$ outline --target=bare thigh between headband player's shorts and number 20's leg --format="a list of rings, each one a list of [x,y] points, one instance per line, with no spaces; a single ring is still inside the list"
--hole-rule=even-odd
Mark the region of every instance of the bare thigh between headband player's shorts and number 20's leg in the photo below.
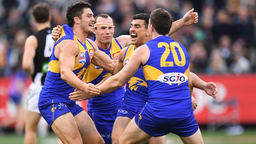
[[[129,117],[118,116],[115,119],[115,123],[112,131],[112,144],[118,144],[118,140],[124,133],[125,128],[128,126],[131,119]]]

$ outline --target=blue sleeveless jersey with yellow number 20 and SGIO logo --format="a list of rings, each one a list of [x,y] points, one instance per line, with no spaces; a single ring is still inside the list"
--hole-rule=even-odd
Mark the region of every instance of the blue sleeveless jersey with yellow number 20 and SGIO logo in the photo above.
[[[168,36],[146,42],[150,56],[143,65],[148,81],[146,108],[158,118],[186,118],[192,105],[188,87],[189,55],[186,48]],[[193,113],[192,113],[193,114]]]

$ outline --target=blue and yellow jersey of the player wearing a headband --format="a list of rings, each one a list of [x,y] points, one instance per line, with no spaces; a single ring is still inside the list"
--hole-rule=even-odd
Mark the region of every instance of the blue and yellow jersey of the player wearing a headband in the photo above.
[[[95,41],[95,38],[92,39]],[[111,59],[119,59],[119,53],[122,50],[122,46],[119,44],[117,39],[112,38],[111,44],[108,50],[101,49],[99,50],[105,52]],[[93,65],[92,63],[88,66],[87,71],[83,77],[83,81],[86,83],[93,83],[94,85],[98,84],[102,79],[110,76],[111,74],[98,66]],[[124,87],[121,87],[113,92],[108,94],[102,94],[95,96],[88,100],[87,110],[91,113],[98,114],[114,114],[117,113],[118,107],[122,102],[124,96]]]

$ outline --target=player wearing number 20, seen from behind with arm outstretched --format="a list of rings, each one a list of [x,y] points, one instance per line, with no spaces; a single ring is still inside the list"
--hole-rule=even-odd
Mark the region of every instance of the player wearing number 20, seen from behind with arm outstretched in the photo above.
[[[120,143],[137,143],[167,133],[179,135],[184,143],[203,143],[191,106],[188,54],[182,44],[165,36],[171,21],[167,11],[154,10],[148,24],[153,39],[137,48],[129,63],[99,86],[101,93],[117,89],[143,65],[148,102],[128,124]]]

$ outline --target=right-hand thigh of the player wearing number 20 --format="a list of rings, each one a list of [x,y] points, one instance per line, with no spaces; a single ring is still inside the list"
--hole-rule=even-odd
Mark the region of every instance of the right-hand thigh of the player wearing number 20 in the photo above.
[[[189,137],[180,137],[184,144],[204,144],[200,129]]]

